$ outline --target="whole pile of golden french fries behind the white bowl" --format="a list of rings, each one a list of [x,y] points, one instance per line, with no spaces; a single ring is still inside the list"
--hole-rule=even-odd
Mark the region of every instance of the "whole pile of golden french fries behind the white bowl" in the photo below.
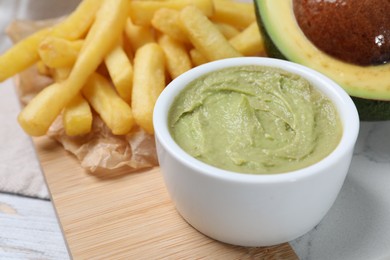
[[[252,3],[232,0],[84,0],[61,22],[0,56],[0,82],[31,66],[53,83],[21,111],[31,136],[59,116],[69,136],[89,133],[97,114],[114,135],[153,134],[156,99],[200,64],[264,52]]]

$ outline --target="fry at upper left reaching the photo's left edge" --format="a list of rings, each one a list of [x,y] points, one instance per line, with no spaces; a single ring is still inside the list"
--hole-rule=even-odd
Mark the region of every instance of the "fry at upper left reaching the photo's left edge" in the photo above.
[[[41,29],[13,45],[0,56],[0,82],[32,66],[39,60],[38,46],[48,35],[75,40],[91,26],[103,0],[84,0],[63,22]]]

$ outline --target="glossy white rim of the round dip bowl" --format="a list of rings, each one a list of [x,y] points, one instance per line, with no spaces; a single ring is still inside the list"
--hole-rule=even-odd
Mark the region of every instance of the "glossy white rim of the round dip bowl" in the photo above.
[[[298,74],[320,89],[328,98],[333,101],[339,113],[343,127],[343,134],[336,148],[319,162],[285,173],[272,174],[248,174],[224,170],[207,163],[204,163],[186,151],[184,151],[172,138],[168,129],[168,112],[175,97],[192,80],[207,74],[211,71],[246,65],[258,65],[276,67],[290,73]],[[172,80],[158,97],[153,111],[153,125],[155,129],[156,142],[165,149],[172,157],[187,167],[196,170],[200,174],[225,181],[244,183],[272,183],[272,182],[294,182],[302,178],[313,176],[315,172],[322,172],[329,166],[334,165],[353,149],[360,127],[359,115],[354,102],[347,92],[336,82],[314,69],[298,63],[268,57],[238,57],[227,58],[208,62],[199,65]]]

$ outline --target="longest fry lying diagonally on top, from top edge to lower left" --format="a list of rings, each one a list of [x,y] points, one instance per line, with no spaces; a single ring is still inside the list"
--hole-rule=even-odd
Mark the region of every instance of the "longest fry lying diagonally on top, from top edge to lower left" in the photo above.
[[[128,0],[102,3],[69,77],[55,84],[55,88],[38,93],[19,114],[18,121],[26,133],[44,135],[61,110],[81,91],[123,32],[128,3]],[[44,111],[50,112],[47,115]]]

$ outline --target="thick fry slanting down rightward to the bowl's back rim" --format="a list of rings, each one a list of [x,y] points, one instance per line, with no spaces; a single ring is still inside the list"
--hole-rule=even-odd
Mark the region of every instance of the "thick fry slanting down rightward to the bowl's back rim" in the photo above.
[[[242,56],[197,7],[190,5],[180,11],[180,25],[208,61]]]

